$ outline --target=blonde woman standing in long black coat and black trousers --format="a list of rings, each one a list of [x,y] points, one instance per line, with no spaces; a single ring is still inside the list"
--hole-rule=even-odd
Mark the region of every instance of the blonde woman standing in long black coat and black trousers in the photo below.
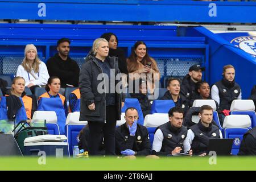
[[[106,155],[115,155],[115,126],[120,119],[124,98],[117,59],[108,54],[108,41],[102,38],[94,40],[79,76],[80,121],[88,121],[89,155],[100,155],[101,131],[104,133]],[[114,76],[119,76],[119,80]]]

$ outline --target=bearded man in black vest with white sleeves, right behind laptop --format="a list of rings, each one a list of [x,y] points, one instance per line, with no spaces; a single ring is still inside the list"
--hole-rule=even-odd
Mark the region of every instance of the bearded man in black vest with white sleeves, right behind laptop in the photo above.
[[[213,125],[213,109],[211,106],[203,105],[199,112],[200,121],[189,128],[184,140],[184,151],[192,150],[193,154],[205,156],[208,151],[210,139],[222,138],[218,126]]]

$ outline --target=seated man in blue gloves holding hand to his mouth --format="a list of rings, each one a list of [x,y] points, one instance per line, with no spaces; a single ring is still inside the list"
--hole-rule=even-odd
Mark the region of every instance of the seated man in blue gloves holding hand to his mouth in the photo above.
[[[138,111],[128,107],[125,111],[126,122],[115,130],[117,155],[150,155],[150,140],[147,128],[139,125]]]

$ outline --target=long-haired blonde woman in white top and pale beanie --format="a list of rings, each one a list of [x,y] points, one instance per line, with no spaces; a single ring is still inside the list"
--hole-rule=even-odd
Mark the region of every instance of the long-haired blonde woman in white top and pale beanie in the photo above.
[[[19,65],[16,76],[21,76],[26,81],[26,85],[35,93],[35,88],[47,84],[49,74],[46,64],[38,58],[38,51],[33,44],[27,44],[24,51],[24,59]]]

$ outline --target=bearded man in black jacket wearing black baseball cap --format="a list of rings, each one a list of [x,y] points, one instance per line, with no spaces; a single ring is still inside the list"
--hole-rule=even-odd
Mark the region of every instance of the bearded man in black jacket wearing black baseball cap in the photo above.
[[[188,74],[182,80],[180,93],[186,98],[188,105],[192,106],[196,83],[202,80],[202,72],[205,71],[205,68],[199,64],[194,64],[188,71]]]

